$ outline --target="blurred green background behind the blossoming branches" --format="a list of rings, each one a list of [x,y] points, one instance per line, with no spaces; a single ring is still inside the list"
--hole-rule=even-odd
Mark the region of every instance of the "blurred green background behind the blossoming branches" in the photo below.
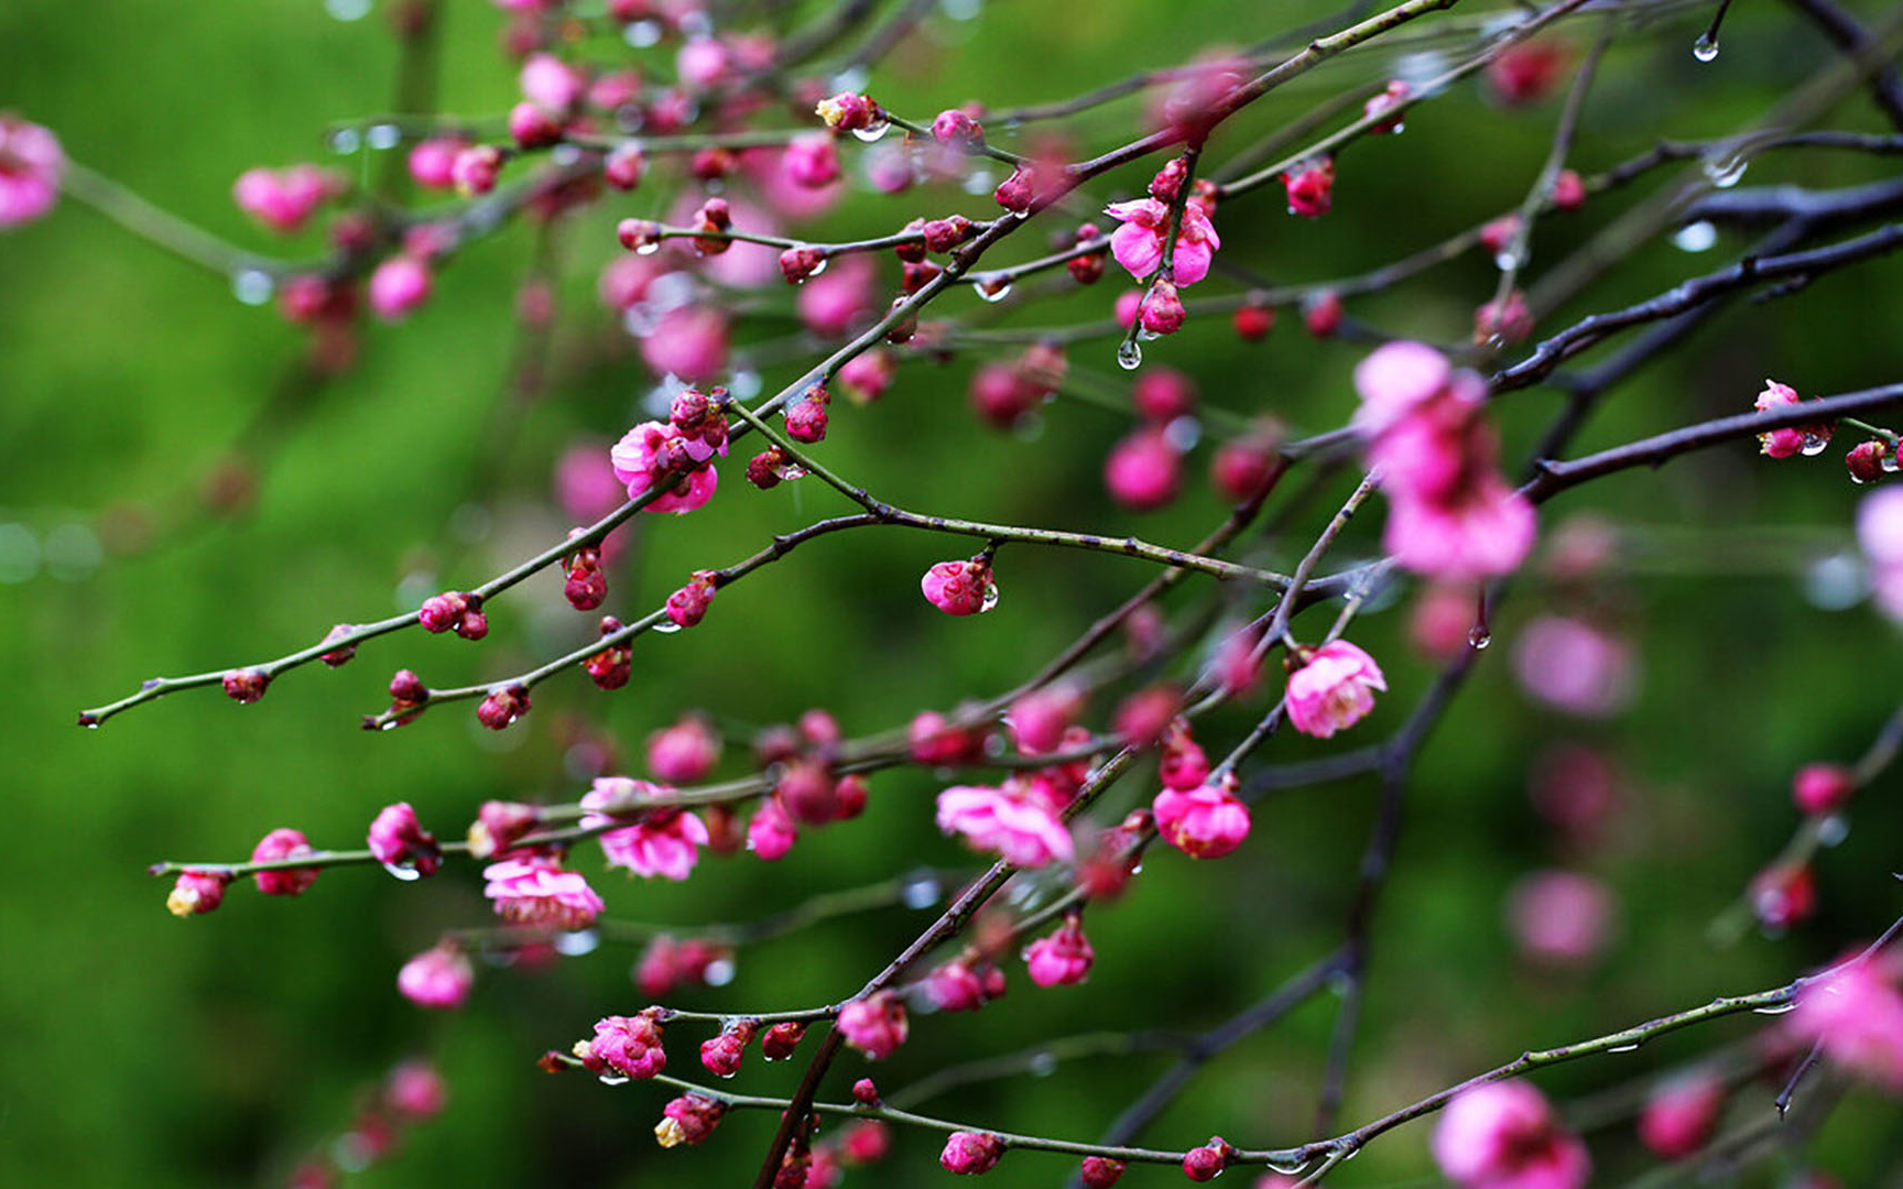
[[[358,158],[329,158],[322,131],[388,103],[396,44],[383,8],[339,21],[318,0],[257,0],[242,10],[13,0],[0,8],[0,108],[51,126],[74,160],[152,202],[270,251],[232,207],[230,183],[255,164],[360,167]],[[872,72],[870,89],[894,110],[929,116],[974,97],[993,107],[1058,99],[1326,11],[1246,0],[946,6],[953,8],[934,10],[923,32]],[[980,8],[978,19],[963,19]],[[1572,160],[1591,171],[1659,135],[1736,131],[1825,61],[1819,38],[1785,8],[1739,8],[1711,67],[1688,53],[1703,8],[1665,13],[1621,42]],[[504,110],[514,67],[497,49],[502,15],[457,0],[441,23],[443,110]],[[1568,27],[1574,53],[1591,29]],[[1237,120],[1214,141],[1212,158],[1345,86],[1385,76],[1399,53],[1442,48],[1422,40],[1351,55]],[[668,53],[672,46],[636,57],[664,63]],[[1345,154],[1326,219],[1288,219],[1271,192],[1224,207],[1224,255],[1302,282],[1437,242],[1520,200],[1555,114],[1557,101],[1503,110],[1477,86],[1462,86],[1414,112],[1406,135]],[[1077,141],[1102,148],[1136,122],[1127,101],[1085,120]],[[1878,127],[1861,95],[1827,124]],[[851,167],[856,146],[845,148]],[[1838,186],[1882,177],[1880,166],[1850,154],[1772,156],[1751,167],[1745,185]],[[1106,179],[1098,198],[1134,194],[1146,177],[1134,169]],[[883,731],[919,708],[1016,683],[1134,590],[1148,576],[1142,567],[1014,546],[999,573],[999,609],[961,622],[934,614],[915,594],[917,575],[959,556],[961,544],[913,533],[835,536],[723,592],[700,630],[643,637],[634,681],[618,694],[599,694],[579,675],[552,681],[537,691],[535,713],[499,736],[481,732],[468,706],[402,732],[356,729],[358,713],[384,704],[396,668],[432,683],[474,681],[573,647],[584,616],[565,609],[554,576],[540,576],[491,609],[493,633],[481,647],[402,633],[363,647],[339,672],[284,677],[251,708],[196,691],[97,732],[72,727],[78,708],[120,696],[143,677],[276,656],[337,620],[415,605],[419,590],[476,584],[554,540],[567,527],[550,498],[554,458],[575,439],[618,436],[641,417],[651,384],[632,352],[601,348],[617,335],[594,299],[599,264],[618,251],[609,228],[620,215],[664,209],[674,185],[657,175],[636,196],[598,204],[561,228],[556,382],[527,407],[510,394],[512,289],[533,251],[523,226],[459,255],[438,278],[436,299],[405,325],[367,325],[356,367],[314,388],[287,379],[297,375],[303,335],[272,308],[236,302],[223,278],[74,202],[0,236],[0,521],[10,525],[0,559],[0,704],[15,837],[10,894],[0,898],[8,955],[0,1181],[282,1183],[348,1130],[365,1086],[413,1054],[430,1056],[447,1077],[449,1111],[350,1183],[647,1187],[752,1176],[771,1134],[767,1117],[731,1117],[704,1147],[662,1153],[649,1132],[668,1094],[537,1073],[544,1048],[565,1048],[601,1014],[641,1006],[628,984],[632,951],[605,945],[539,970],[485,970],[470,1006],[447,1018],[396,995],[398,966],[440,928],[485,921],[468,864],[421,885],[373,869],[331,871],[295,902],[238,887],[215,915],[185,923],[166,915],[166,887],[145,866],[242,858],[274,826],[297,826],[320,847],[362,845],[369,818],[398,799],[453,837],[485,797],[573,799],[582,782],[565,769],[575,763],[565,753],[579,731],[611,738],[622,767],[636,770],[645,734],[683,708],[710,708],[742,738],[809,706],[832,710],[849,734]],[[1629,202],[1621,194],[1541,224],[1532,274]],[[814,234],[864,234],[919,213],[976,217],[990,207],[955,188],[858,192]],[[1745,232],[1726,228],[1707,255],[1648,249],[1547,325],[1654,293],[1745,244]],[[297,255],[316,247],[310,236]],[[1028,259],[1039,247],[1012,242],[1001,251]],[[1393,333],[1460,339],[1494,276],[1490,263],[1469,257],[1349,310]],[[1111,278],[1018,318],[1028,325],[1100,318],[1115,291]],[[1804,394],[1892,382],[1897,354],[1888,323],[1899,299],[1903,274],[1878,261],[1785,301],[1732,308],[1619,388],[1578,445],[1743,409],[1766,375]],[[752,304],[765,312],[740,323],[738,341],[782,335],[788,302],[780,287],[763,291]],[[942,306],[982,308],[965,293]],[[1191,373],[1210,405],[1323,430],[1347,417],[1347,375],[1364,350],[1315,342],[1294,318],[1265,344],[1246,346],[1226,320],[1203,318],[1149,344],[1149,360]],[[912,363],[872,409],[835,403],[826,458],[919,510],[1140,531],[1172,544],[1195,540],[1222,516],[1201,478],[1207,445],[1167,512],[1132,516],[1108,502],[1102,457],[1128,430],[1127,415],[1060,400],[1045,411],[1039,436],[978,426],[963,398],[974,360]],[[803,365],[765,367],[769,390]],[[1106,386],[1127,384],[1108,341],[1077,346],[1071,365]],[[1543,390],[1503,401],[1507,457],[1524,451],[1557,407]],[[249,485],[253,495],[236,506],[207,495]],[[1292,565],[1351,485],[1344,474],[1321,491],[1271,563]],[[1707,942],[1707,925],[1795,828],[1787,789],[1796,765],[1859,755],[1895,708],[1893,626],[1867,603],[1815,601],[1814,563],[1852,550],[1861,495],[1836,451],[1772,464],[1737,443],[1549,506],[1547,525],[1593,510],[1646,544],[1631,554],[1646,565],[1616,567],[1585,599],[1597,622],[1633,643],[1637,696],[1606,719],[1532,702],[1511,677],[1509,654],[1517,628],[1551,592],[1528,582],[1507,603],[1498,643],[1418,767],[1376,926],[1345,1122],[1528,1046],[1787,982],[1897,913],[1888,873],[1903,814],[1892,776],[1869,789],[1848,839],[1821,858],[1814,921],[1787,938]],[[710,508],[641,523],[607,609],[651,607],[687,571],[736,559],[835,506],[811,481],[757,493],[729,464]],[[1374,550],[1378,519],[1357,523],[1342,561]],[[1195,582],[1186,584],[1170,609],[1191,607],[1197,594]],[[1581,605],[1564,597],[1574,601],[1562,607]],[[1825,592],[1825,601],[1840,599]],[[1404,618],[1403,603],[1366,614],[1353,632],[1391,679],[1376,715],[1330,746],[1279,738],[1269,761],[1374,742],[1403,721],[1433,673],[1410,653]],[[1108,713],[1108,702],[1092,713]],[[1226,748],[1252,713],[1260,706],[1227,711],[1199,734],[1212,750]],[[1585,852],[1560,848],[1528,805],[1532,765],[1560,742],[1600,748],[1623,772],[1616,824],[1604,845]],[[742,753],[744,744],[729,748],[727,770],[742,770]],[[1111,807],[1121,812],[1148,799],[1148,780],[1125,782]],[[864,820],[803,839],[775,866],[708,860],[683,887],[599,873],[592,848],[577,866],[615,917],[748,919],[902,866],[967,862],[931,826],[936,788],[927,772],[881,774]],[[1298,791],[1265,803],[1248,847],[1227,862],[1157,854],[1134,894],[1092,911],[1098,965],[1087,985],[1039,991],[1014,970],[1003,1003],[917,1022],[913,1043],[877,1071],[881,1086],[1052,1035],[1214,1025],[1338,942],[1372,807],[1368,780]],[[1618,894],[1618,936],[1600,961],[1553,972],[1517,955],[1501,904],[1519,877],[1545,866],[1585,869]],[[733,985],[687,991],[681,1006],[765,1010],[837,999],[927,919],[891,909],[750,949]],[[1197,1143],[1210,1132],[1248,1145],[1305,1140],[1332,1003],[1311,1001],[1220,1058],[1146,1138],[1159,1145]],[[1540,1084],[1560,1098],[1585,1094],[1760,1025],[1722,1022],[1633,1056],[1564,1067]],[[674,1071],[695,1073],[700,1037],[685,1025],[670,1037]],[[929,1107],[1092,1138],[1167,1062],[1149,1054],[1068,1063]],[[849,1084],[858,1065],[845,1058],[834,1084]],[[786,1094],[794,1079],[790,1067],[754,1058],[735,1088]],[[1772,1092],[1745,1088],[1734,1119],[1770,1111]],[[1330,1183],[1433,1183],[1427,1130],[1416,1124],[1382,1140]],[[889,1164],[851,1176],[854,1183],[936,1178],[936,1147],[932,1136],[900,1134]],[[1648,1168],[1627,1122],[1597,1132],[1593,1147],[1602,1168],[1595,1183],[1623,1183]],[[1899,1183],[1895,1107],[1854,1092],[1823,1128],[1815,1157],[1846,1185]],[[993,1178],[1054,1183],[1068,1170],[1060,1159],[1016,1155]],[[1127,1183],[1176,1176],[1140,1170]],[[1753,1174],[1741,1183],[1777,1181]]]

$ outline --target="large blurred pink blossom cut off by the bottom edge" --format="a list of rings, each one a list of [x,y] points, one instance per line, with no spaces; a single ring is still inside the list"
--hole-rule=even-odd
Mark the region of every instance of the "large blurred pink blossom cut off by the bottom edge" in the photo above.
[[[1583,1189],[1593,1172],[1585,1145],[1526,1082],[1456,1094],[1435,1126],[1433,1157],[1460,1189]]]

